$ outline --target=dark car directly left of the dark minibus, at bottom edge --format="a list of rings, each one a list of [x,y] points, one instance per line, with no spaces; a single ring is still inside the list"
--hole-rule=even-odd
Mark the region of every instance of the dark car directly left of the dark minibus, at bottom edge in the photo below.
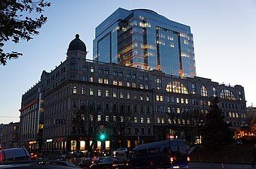
[[[129,168],[128,163],[120,158],[104,157],[99,159],[94,164],[91,164],[90,169],[121,169]]]

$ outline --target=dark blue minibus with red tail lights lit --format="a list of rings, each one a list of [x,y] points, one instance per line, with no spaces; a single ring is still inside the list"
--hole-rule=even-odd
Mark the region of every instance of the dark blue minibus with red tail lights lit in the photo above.
[[[145,143],[133,149],[132,168],[188,168],[190,157],[184,140]]]

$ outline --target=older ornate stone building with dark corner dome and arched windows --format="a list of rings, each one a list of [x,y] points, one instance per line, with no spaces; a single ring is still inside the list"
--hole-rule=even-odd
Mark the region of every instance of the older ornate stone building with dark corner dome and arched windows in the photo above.
[[[91,61],[86,54],[76,35],[66,60],[51,72],[43,71],[40,82],[23,95],[24,145],[33,138],[43,149],[83,150],[93,133],[99,149],[169,138],[199,143],[199,123],[216,96],[231,127],[244,122],[242,86]],[[106,134],[101,141],[100,133]]]

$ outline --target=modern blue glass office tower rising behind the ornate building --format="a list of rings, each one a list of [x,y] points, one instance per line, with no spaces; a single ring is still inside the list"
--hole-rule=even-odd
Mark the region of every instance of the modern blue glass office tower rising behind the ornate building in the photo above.
[[[117,9],[95,30],[94,60],[195,77],[190,26],[146,9]]]

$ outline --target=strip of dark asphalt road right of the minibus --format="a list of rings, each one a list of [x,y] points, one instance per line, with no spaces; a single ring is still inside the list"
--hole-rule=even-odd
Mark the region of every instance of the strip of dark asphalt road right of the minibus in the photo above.
[[[190,163],[190,169],[256,169],[250,164],[218,164],[218,163]]]

